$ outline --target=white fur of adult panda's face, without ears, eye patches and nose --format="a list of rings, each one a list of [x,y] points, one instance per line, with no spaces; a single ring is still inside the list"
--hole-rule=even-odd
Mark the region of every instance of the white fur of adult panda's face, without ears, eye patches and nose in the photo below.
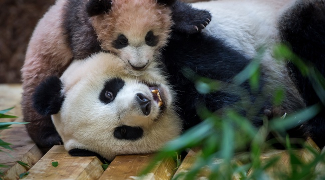
[[[61,76],[65,95],[59,113],[53,122],[67,150],[73,148],[97,152],[107,159],[119,154],[148,153],[158,150],[182,130],[181,120],[174,110],[174,92],[164,75],[150,66],[142,75],[134,75],[125,64],[109,53],[98,53],[85,60],[75,60]],[[103,103],[99,94],[105,81],[120,77],[125,85],[111,103]],[[152,94],[145,83],[159,84],[167,108],[159,113]],[[136,93],[151,100],[150,114],[144,115],[135,101]],[[117,126],[140,126],[143,136],[137,140],[117,139],[113,132]]]

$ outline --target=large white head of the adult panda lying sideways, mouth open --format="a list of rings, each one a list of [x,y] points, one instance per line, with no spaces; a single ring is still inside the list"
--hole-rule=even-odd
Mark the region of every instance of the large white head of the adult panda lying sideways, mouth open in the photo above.
[[[36,89],[35,108],[52,114],[72,155],[153,152],[182,130],[174,92],[159,69],[153,64],[136,76],[117,58],[100,52],[75,60],[60,79],[50,77]]]

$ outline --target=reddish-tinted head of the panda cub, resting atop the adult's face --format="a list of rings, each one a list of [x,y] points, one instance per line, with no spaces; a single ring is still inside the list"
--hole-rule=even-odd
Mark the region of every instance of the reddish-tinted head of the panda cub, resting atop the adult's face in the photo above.
[[[167,44],[176,0],[90,0],[87,11],[101,48],[144,69]]]

